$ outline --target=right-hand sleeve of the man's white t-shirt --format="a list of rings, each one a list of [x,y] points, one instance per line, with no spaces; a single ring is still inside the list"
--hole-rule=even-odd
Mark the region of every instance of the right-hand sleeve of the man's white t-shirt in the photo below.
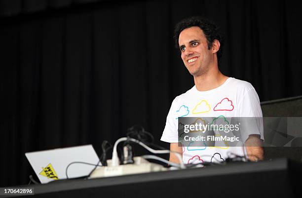
[[[240,117],[242,141],[245,142],[251,134],[258,134],[264,140],[263,115],[255,88],[250,84],[244,89],[241,96],[238,103],[238,117]]]

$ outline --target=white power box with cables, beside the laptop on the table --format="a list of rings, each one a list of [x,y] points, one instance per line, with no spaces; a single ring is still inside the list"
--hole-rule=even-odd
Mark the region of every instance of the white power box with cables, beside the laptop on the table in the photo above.
[[[107,160],[108,166],[102,166],[95,169],[90,178],[98,177],[113,177],[121,175],[139,174],[165,171],[168,168],[163,167],[160,164],[151,163],[142,157],[134,157],[134,163],[112,166],[112,160]]]

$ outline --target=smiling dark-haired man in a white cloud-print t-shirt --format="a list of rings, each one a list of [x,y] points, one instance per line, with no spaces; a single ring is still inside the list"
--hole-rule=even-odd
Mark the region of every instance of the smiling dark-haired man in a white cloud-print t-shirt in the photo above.
[[[223,75],[218,67],[222,56],[223,39],[215,24],[202,17],[191,17],[178,23],[175,42],[181,58],[193,76],[195,86],[177,96],[171,105],[161,140],[170,143],[170,150],[183,153],[183,161],[224,161],[229,154],[245,156],[250,160],[264,158],[262,145],[263,125],[256,124],[248,134],[242,134],[243,147],[179,146],[179,117],[258,117],[262,118],[259,97],[254,87],[246,81]],[[226,106],[228,107],[221,107]],[[199,148],[199,149],[198,149]],[[219,156],[219,157],[218,157]],[[213,161],[215,158],[215,161]],[[170,153],[170,161],[179,163]]]

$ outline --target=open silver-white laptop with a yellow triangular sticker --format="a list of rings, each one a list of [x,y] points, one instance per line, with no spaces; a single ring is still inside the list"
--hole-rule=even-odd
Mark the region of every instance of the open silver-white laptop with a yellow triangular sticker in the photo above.
[[[67,176],[68,178],[87,176],[95,167],[87,163],[97,164],[99,162],[92,145],[30,152],[25,156],[42,184],[66,179]],[[68,166],[69,164],[70,166]]]

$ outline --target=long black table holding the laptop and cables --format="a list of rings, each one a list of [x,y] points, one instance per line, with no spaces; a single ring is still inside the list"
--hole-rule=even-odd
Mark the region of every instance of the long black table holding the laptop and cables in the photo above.
[[[302,164],[286,158],[31,185],[29,198],[301,197]],[[29,187],[29,186],[23,186]],[[9,196],[12,198],[12,196]]]

